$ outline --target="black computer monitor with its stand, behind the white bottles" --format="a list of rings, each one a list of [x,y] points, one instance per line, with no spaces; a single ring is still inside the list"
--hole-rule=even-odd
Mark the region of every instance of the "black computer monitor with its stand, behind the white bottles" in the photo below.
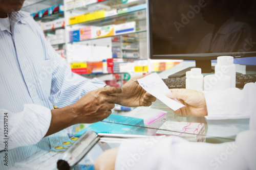
[[[150,59],[195,60],[211,72],[218,56],[256,57],[253,0],[148,0]]]

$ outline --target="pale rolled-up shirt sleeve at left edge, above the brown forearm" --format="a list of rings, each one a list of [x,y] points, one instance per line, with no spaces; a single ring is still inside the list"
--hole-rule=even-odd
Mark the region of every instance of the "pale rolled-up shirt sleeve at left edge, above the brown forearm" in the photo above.
[[[0,151],[39,142],[46,135],[52,118],[50,109],[35,104],[25,104],[19,113],[0,109],[0,114]]]

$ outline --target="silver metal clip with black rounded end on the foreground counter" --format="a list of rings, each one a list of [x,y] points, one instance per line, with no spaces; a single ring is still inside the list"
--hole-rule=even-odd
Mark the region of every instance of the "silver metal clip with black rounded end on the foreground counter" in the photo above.
[[[144,135],[125,135],[125,134],[109,134],[109,133],[98,133],[93,131],[86,131],[77,139],[71,147],[62,154],[62,157],[57,162],[57,168],[60,170],[69,170],[76,165],[89,151],[94,147],[95,144],[99,143],[103,150],[110,149],[105,147],[103,143],[121,143],[127,138],[145,138],[152,136]]]

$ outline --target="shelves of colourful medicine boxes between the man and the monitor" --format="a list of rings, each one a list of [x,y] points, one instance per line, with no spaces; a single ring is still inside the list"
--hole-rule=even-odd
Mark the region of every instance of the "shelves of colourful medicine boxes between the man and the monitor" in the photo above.
[[[84,62],[83,68],[90,67],[81,74],[118,73],[126,59],[126,70],[133,72],[131,60],[147,59],[145,0],[66,0],[64,6],[67,60],[73,67]],[[103,71],[105,61],[112,71]]]

